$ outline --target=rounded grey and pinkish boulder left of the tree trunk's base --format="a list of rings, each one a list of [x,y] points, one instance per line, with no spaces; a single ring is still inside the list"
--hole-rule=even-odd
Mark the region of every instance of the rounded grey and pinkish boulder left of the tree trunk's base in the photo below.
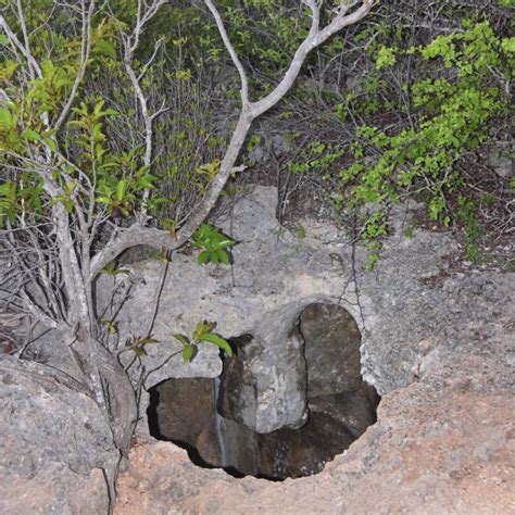
[[[106,513],[118,453],[73,379],[0,360],[0,513]]]

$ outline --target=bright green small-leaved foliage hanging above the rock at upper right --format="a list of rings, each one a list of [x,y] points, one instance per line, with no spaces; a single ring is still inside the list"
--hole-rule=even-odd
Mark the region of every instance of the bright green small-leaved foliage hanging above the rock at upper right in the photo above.
[[[424,63],[426,76],[404,87],[414,123],[397,131],[361,125],[350,146],[354,162],[339,173],[337,208],[377,206],[362,233],[372,250],[369,265],[377,261],[380,248],[374,241],[388,233],[391,203],[417,196],[427,203],[432,221],[452,222],[448,198],[463,186],[456,161],[487,141],[489,124],[507,113],[508,98],[499,77],[512,77],[512,39],[495,36],[487,22],[464,25],[464,32],[438,36],[426,46],[381,47],[377,54],[377,70],[387,73],[398,59],[410,56]],[[468,254],[477,258],[477,205],[464,196],[459,202],[457,218],[464,225]]]

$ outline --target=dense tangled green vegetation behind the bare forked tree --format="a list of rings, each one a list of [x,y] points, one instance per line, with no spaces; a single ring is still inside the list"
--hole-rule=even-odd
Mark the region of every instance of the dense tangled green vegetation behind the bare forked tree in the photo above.
[[[9,16],[14,2],[4,3]],[[481,241],[501,241],[512,222],[513,178],[489,167],[493,154],[512,155],[512,3],[379,3],[309,56],[293,95],[253,126],[241,156],[249,169],[225,194],[258,179],[278,183],[291,214],[296,198],[317,199],[313,210],[330,203],[347,225],[357,216],[354,231],[368,241],[370,264],[388,233],[389,206],[413,198],[427,205],[430,221],[462,229],[468,258],[485,258]],[[309,13],[297,1],[218,4],[256,98],[282,77]],[[154,58],[139,80],[146,109],[161,110],[150,173],[146,121],[120,37],[136,10],[137,2],[109,2],[95,13],[88,73],[58,138],[80,166],[95,166],[97,200],[115,219],[134,215],[151,186],[150,213],[173,228],[217,173],[238,114],[239,79],[202,2],[161,8],[129,56],[137,73]],[[28,30],[38,27],[32,50],[45,78],[25,106],[2,110],[4,129],[28,102],[32,116],[58,116],[77,72],[78,12],[40,0],[27,2],[25,12]],[[15,102],[20,71],[5,40],[3,56],[3,90]],[[39,134],[37,124],[29,126]],[[14,219],[22,199],[26,210],[40,204],[38,181],[26,176],[21,188],[10,174],[2,174],[2,219]],[[288,214],[287,204],[280,214]]]

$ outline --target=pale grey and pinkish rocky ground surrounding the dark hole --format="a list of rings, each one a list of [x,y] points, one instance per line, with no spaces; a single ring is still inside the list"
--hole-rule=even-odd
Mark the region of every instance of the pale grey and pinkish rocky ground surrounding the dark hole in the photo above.
[[[305,395],[288,365],[288,339],[299,314],[323,301],[357,324],[362,375],[382,395],[377,423],[321,474],[280,483],[237,479],[146,436],[143,394],[115,513],[515,513],[515,274],[456,271],[449,235],[400,236],[405,213],[376,269],[366,272],[366,253],[341,244],[335,227],[305,219],[305,234],[285,233],[273,189],[256,188],[218,222],[239,241],[231,269],[174,256],[145,387],[219,374],[214,348],[191,365],[174,356],[171,335],[209,317],[223,336],[252,334],[264,349],[250,369],[264,404],[246,416],[268,429],[293,426]],[[117,279],[130,282],[121,346],[146,329],[163,265],[128,267]],[[113,472],[116,453],[100,412],[62,361],[63,346],[48,334],[30,347],[43,363],[0,359],[0,513],[104,513],[109,504],[102,469]]]

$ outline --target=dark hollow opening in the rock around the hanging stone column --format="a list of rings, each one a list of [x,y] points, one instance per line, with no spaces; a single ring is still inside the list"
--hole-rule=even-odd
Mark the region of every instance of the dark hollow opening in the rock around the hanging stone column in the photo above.
[[[150,390],[150,434],[186,449],[196,465],[224,468],[235,477],[284,480],[317,474],[376,422],[380,398],[362,380],[361,335],[347,310],[309,305],[280,344],[299,338],[303,344],[291,347],[304,364],[299,387],[307,416],[299,420],[301,427],[255,432],[244,424],[252,399],[238,393],[239,405],[230,405],[231,392],[240,390],[255,402],[249,385],[255,386],[256,378],[249,377],[246,360],[255,359],[262,348],[244,335],[233,340],[237,354],[219,378],[168,379]]]

